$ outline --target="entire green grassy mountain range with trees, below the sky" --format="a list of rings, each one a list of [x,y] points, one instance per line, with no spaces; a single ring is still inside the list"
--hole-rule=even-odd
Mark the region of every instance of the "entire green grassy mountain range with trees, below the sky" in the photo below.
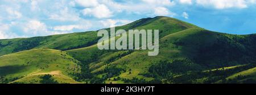
[[[213,32],[166,16],[118,29],[158,29],[159,55],[100,50],[97,31],[3,39],[0,82],[256,83],[255,34]]]

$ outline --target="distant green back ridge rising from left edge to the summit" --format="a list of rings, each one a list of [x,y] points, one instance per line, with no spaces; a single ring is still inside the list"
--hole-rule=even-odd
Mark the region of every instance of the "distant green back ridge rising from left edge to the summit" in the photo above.
[[[182,22],[174,18],[167,18],[164,16],[156,16],[155,18],[140,19],[125,26],[116,27],[118,29],[129,30],[137,29],[158,29],[164,36],[172,32],[184,30],[185,28],[196,27],[192,24]],[[107,28],[109,30],[109,28]],[[0,56],[9,53],[24,51],[32,48],[51,48],[51,49],[75,49],[81,47],[88,47],[97,43],[96,31],[79,32],[72,34],[39,36],[34,38],[18,38],[18,39],[2,39],[0,40]]]

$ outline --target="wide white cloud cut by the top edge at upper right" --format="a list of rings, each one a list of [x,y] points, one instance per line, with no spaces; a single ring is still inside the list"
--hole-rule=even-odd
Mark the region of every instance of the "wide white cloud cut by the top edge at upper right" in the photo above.
[[[243,9],[247,7],[247,2],[245,0],[196,0],[196,3],[205,7],[213,6],[216,9]]]

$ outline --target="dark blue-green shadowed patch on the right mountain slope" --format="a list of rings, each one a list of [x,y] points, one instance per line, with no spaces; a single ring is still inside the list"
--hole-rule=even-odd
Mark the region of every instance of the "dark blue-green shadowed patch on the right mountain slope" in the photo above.
[[[213,44],[203,44],[196,49],[194,61],[212,68],[255,63],[256,55],[252,53],[256,52],[255,41],[252,37],[218,35]]]

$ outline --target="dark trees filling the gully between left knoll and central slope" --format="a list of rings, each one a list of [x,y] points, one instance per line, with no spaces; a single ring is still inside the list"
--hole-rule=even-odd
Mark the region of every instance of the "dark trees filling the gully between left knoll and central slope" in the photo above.
[[[102,71],[99,71],[97,73],[92,73],[92,69],[89,68],[89,64],[93,61],[100,62],[99,57],[101,53],[106,52],[116,52],[117,50],[102,50],[102,51],[96,51],[97,53],[93,53],[93,55],[90,56],[90,59],[81,61],[79,64],[81,67],[81,73],[75,73],[75,80],[76,81],[85,81],[86,83],[104,83],[105,80],[107,80],[110,77],[118,76],[121,74],[121,72],[126,71],[123,67],[117,67],[115,65],[108,66],[104,68]],[[123,56],[129,55],[133,51],[124,51],[122,53],[119,53],[117,56],[110,57],[110,59],[104,61],[104,63],[109,64],[112,63],[115,60],[121,59]],[[101,76],[98,76],[101,75]]]

